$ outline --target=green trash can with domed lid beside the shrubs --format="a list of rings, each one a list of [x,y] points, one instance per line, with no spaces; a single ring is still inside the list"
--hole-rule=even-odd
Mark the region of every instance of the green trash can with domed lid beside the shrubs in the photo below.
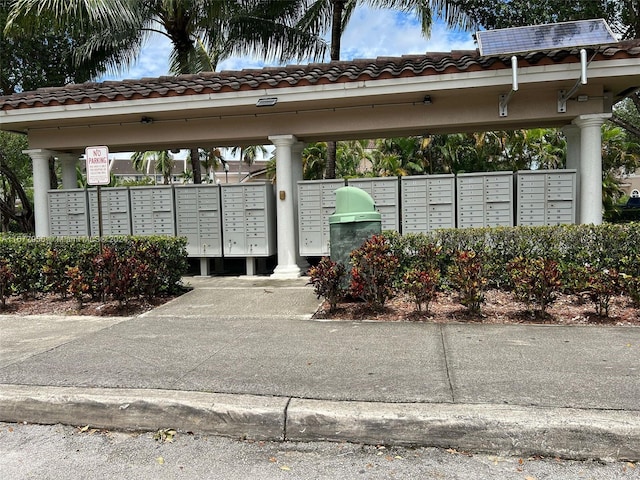
[[[381,217],[373,198],[357,187],[336,190],[336,211],[329,217],[331,260],[342,263],[347,271],[349,255],[372,235],[381,233]]]

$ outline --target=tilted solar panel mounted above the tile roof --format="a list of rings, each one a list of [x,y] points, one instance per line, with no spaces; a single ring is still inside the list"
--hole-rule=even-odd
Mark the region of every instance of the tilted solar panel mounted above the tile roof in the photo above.
[[[476,33],[480,55],[504,55],[616,43],[602,18],[527,27],[484,30]]]

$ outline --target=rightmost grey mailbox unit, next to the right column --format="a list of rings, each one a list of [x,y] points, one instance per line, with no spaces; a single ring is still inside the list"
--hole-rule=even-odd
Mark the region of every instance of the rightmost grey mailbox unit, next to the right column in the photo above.
[[[518,225],[575,223],[575,170],[520,170],[516,179]]]

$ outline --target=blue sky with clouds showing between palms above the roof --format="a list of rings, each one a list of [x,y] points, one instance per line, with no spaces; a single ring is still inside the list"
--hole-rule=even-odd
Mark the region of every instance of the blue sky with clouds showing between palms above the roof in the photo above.
[[[447,29],[441,21],[435,21],[431,37],[426,39],[414,16],[392,10],[359,7],[342,37],[342,60],[422,54],[425,52],[449,52],[475,49],[471,32]],[[151,38],[141,52],[138,61],[128,70],[109,75],[104,79],[136,79],[167,75],[171,45],[168,39],[158,35]],[[254,58],[229,58],[218,65],[218,70],[259,68],[265,63]]]

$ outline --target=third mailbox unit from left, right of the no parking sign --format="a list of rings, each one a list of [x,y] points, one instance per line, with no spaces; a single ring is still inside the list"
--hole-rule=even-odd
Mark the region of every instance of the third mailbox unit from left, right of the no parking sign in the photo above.
[[[131,187],[133,235],[175,235],[173,186]]]

